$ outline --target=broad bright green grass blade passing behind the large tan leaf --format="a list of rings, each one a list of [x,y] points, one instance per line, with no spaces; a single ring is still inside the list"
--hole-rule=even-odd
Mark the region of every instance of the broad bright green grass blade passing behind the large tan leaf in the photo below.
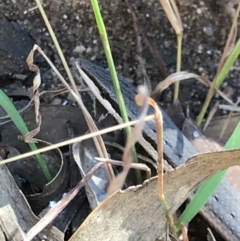
[[[229,138],[228,142],[225,145],[225,149],[235,149],[240,148],[240,122],[235,128],[233,134]],[[208,198],[213,194],[217,186],[220,184],[227,170],[223,170],[209,180],[205,181],[200,188],[197,190],[191,202],[188,204],[187,208],[184,210],[180,218],[176,223],[176,229],[181,229],[181,223],[189,223],[194,216],[200,211],[200,209],[205,205]]]

